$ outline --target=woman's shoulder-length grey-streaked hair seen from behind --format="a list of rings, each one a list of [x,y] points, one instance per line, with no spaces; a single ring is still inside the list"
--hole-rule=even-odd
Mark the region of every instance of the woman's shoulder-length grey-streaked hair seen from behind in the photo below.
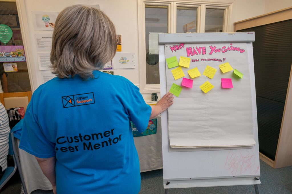
[[[52,73],[59,78],[93,77],[92,71],[103,69],[116,49],[116,30],[105,13],[85,5],[69,6],[54,25]]]

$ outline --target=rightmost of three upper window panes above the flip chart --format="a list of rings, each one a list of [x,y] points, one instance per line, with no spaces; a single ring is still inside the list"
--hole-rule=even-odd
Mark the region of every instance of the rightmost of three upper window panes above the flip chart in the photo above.
[[[224,9],[206,8],[205,32],[222,32]]]

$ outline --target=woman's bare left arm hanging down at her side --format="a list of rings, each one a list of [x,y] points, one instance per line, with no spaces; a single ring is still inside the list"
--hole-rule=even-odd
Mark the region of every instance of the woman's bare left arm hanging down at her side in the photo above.
[[[38,158],[35,157],[39,166],[41,167],[41,171],[43,171],[44,175],[49,179],[53,186],[53,192],[56,194],[56,174],[55,174],[55,164],[56,157],[51,158]]]

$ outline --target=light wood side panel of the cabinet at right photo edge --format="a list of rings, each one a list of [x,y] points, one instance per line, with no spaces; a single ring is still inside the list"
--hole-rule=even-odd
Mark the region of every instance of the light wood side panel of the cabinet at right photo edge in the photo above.
[[[292,165],[292,68],[284,107],[274,168]]]

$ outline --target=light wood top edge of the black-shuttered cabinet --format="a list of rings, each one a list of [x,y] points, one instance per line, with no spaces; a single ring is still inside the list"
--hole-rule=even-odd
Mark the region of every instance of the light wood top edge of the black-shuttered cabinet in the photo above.
[[[292,7],[234,23],[234,31],[292,19]]]

